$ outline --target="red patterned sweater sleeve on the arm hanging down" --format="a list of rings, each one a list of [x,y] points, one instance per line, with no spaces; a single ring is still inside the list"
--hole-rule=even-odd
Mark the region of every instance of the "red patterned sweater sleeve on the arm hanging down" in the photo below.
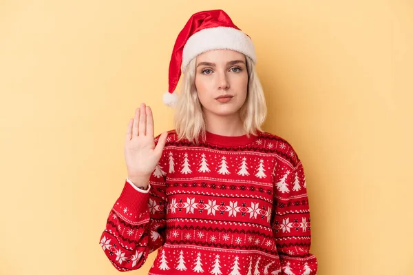
[[[272,227],[281,274],[317,274],[317,258],[310,254],[310,207],[304,168],[293,147],[277,161],[274,177]]]

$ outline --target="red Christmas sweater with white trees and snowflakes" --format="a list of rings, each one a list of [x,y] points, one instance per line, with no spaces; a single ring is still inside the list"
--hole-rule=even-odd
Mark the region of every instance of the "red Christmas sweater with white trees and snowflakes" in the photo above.
[[[196,145],[169,131],[148,190],[126,179],[100,238],[112,265],[138,269],[157,251],[151,275],[315,275],[293,147],[268,132],[206,134]]]

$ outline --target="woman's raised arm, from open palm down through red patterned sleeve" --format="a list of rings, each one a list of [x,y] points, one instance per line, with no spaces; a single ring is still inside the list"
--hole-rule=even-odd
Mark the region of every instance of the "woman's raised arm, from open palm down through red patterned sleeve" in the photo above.
[[[156,170],[156,165],[167,133],[157,136],[156,143],[151,109],[143,103],[140,107],[126,134],[127,180],[100,237],[100,246],[120,271],[138,269],[165,241],[166,176]]]

